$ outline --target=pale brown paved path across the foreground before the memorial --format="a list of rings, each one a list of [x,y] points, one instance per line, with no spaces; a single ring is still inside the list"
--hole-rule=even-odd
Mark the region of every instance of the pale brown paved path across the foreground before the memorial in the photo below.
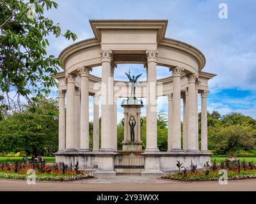
[[[0,191],[256,191],[256,179],[218,182],[177,182],[152,177],[100,177],[73,182],[36,182],[0,179]]]

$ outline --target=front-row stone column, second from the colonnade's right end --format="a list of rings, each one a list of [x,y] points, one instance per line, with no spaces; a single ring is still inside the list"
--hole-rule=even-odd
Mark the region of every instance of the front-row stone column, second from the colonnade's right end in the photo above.
[[[196,75],[188,77],[188,151],[196,151],[196,105],[195,105],[195,82]]]

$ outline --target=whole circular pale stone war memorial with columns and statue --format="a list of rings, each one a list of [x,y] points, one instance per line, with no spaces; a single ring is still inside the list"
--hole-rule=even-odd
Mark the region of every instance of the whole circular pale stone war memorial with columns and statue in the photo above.
[[[90,20],[90,24],[95,38],[65,48],[60,54],[64,71],[54,76],[59,83],[60,107],[56,162],[79,161],[81,169],[95,175],[162,175],[177,170],[177,160],[185,166],[193,161],[202,168],[211,156],[207,151],[207,94],[208,80],[215,76],[202,71],[204,54],[191,45],[165,38],[168,20]],[[132,69],[124,73],[127,81],[114,80],[115,69],[122,64],[144,64],[147,81],[138,82],[140,73],[132,75]],[[97,66],[102,67],[101,78],[90,74]],[[157,66],[170,70],[170,75],[157,79]],[[168,99],[166,152],[157,148],[159,96]],[[92,150],[89,97],[93,97]],[[142,98],[147,103],[143,104]],[[202,113],[200,140],[198,98]],[[117,150],[118,99],[124,110],[122,150]],[[147,107],[145,149],[141,141],[143,106]]]

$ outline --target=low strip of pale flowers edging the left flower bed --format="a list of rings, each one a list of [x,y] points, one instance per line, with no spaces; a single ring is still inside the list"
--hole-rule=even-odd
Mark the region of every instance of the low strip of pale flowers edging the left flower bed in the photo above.
[[[0,179],[26,180],[28,176],[29,176],[28,174],[0,172]],[[40,181],[72,181],[72,180],[90,179],[90,178],[93,178],[91,173],[74,174],[74,175],[40,174],[40,175],[36,175],[35,177],[36,180],[40,180]]]

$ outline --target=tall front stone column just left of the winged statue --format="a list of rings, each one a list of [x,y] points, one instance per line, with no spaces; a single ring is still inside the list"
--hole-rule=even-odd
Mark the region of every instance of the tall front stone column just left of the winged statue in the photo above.
[[[113,151],[113,77],[111,50],[100,50],[102,59],[101,90],[101,147],[102,151]]]

